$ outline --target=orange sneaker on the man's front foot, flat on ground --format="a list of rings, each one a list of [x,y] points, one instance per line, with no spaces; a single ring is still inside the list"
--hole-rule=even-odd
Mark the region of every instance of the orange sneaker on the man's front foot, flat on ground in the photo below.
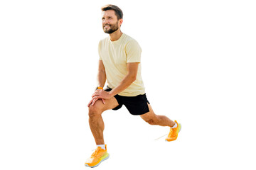
[[[102,149],[101,147],[97,147],[95,152],[92,153],[91,157],[88,158],[85,162],[85,166],[90,168],[94,168],[98,166],[100,163],[105,161],[110,157],[110,154],[107,153],[107,145],[105,145],[106,149]]]

